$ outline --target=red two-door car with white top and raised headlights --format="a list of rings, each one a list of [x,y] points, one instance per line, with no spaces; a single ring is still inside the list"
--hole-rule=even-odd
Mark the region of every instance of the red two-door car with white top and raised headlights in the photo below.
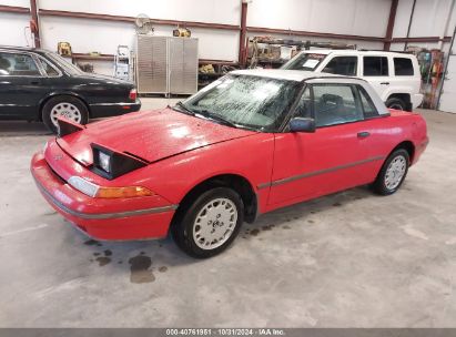
[[[45,200],[89,236],[170,232],[195,257],[225,249],[244,221],[358,185],[396,192],[428,137],[359,79],[234,71],[173,108],[87,126],[59,120],[31,162]]]

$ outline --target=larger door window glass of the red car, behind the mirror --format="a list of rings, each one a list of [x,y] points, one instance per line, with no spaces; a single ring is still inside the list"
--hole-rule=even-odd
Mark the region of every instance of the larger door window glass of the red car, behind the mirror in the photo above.
[[[363,120],[351,84],[314,84],[315,125],[328,126]]]

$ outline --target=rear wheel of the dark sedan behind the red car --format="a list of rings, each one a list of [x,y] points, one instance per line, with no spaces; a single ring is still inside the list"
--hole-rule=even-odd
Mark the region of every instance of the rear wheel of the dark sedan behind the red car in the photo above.
[[[57,118],[59,115],[80,123],[87,124],[89,120],[89,110],[85,104],[74,96],[59,95],[50,99],[41,110],[42,120],[48,129],[57,133]]]

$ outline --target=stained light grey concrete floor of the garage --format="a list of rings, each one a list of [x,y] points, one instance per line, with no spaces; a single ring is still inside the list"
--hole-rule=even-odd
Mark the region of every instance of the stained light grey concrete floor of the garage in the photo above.
[[[45,129],[0,123],[0,327],[456,327],[456,115],[422,113],[430,144],[397,194],[264,215],[207,261],[88,241],[30,176]]]

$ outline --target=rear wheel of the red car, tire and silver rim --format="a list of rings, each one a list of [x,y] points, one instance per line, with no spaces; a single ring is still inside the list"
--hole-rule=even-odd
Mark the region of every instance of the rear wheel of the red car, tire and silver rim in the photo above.
[[[375,193],[389,195],[399,190],[407,175],[409,163],[411,159],[406,150],[394,151],[383,164],[373,184]]]

